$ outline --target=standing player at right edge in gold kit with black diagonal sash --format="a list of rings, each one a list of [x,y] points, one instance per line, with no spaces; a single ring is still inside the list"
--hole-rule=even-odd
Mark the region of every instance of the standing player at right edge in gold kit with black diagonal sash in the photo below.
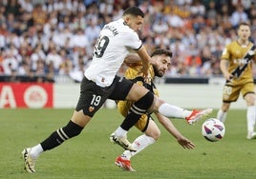
[[[255,45],[249,41],[250,25],[241,23],[238,27],[238,39],[228,44],[221,57],[221,70],[226,80],[223,90],[223,105],[217,118],[225,122],[230,104],[236,102],[242,93],[247,106],[247,139],[256,139],[255,92],[252,64],[256,62]]]

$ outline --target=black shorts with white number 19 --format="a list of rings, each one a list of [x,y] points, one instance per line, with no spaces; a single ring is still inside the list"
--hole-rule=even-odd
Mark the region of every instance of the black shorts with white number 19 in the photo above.
[[[85,115],[93,117],[107,99],[125,100],[133,85],[130,80],[116,76],[111,86],[102,88],[84,77],[75,110],[83,109]]]

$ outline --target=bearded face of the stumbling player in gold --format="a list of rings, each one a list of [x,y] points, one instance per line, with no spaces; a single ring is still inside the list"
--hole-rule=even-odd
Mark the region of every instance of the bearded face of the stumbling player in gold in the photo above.
[[[171,58],[166,55],[156,55],[153,56],[152,59],[155,61],[154,64],[152,64],[155,75],[158,77],[162,77],[167,70],[171,67]]]

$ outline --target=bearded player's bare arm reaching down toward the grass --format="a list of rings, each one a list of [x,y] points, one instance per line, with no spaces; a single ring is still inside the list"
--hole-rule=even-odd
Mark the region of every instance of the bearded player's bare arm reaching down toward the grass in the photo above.
[[[161,115],[159,112],[155,112],[155,114],[160,121],[160,124],[177,139],[177,142],[181,145],[182,148],[195,148],[195,145],[181,134],[181,132],[173,125],[169,118]]]

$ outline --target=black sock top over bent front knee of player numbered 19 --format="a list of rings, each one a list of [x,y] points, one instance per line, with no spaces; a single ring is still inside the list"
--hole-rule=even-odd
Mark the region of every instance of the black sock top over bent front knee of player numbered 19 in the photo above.
[[[151,107],[154,101],[154,94],[148,91],[144,96],[142,96],[137,102],[132,106],[132,110],[136,113],[145,113],[147,109]]]

